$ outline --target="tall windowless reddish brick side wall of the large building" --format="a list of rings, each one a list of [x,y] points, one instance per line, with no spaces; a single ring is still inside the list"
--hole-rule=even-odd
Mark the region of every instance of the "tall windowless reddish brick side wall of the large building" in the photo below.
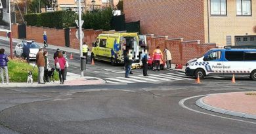
[[[205,41],[203,0],[125,0],[123,10],[126,22],[140,20],[142,34]]]

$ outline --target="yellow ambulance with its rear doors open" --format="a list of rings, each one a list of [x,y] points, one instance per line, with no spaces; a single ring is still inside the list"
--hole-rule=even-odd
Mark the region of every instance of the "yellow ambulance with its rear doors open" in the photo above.
[[[116,65],[123,63],[126,50],[134,64],[139,64],[140,55],[145,52],[145,44],[146,37],[140,37],[137,33],[102,33],[93,43],[91,58]]]

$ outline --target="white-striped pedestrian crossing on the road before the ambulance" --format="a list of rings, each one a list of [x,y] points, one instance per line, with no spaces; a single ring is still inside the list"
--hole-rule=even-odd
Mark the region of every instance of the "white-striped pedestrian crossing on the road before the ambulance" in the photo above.
[[[162,83],[174,82],[179,80],[194,80],[184,73],[167,73],[167,74],[150,74],[149,76],[143,75],[129,75],[129,78],[115,77],[104,78],[110,84],[134,84],[134,83]]]

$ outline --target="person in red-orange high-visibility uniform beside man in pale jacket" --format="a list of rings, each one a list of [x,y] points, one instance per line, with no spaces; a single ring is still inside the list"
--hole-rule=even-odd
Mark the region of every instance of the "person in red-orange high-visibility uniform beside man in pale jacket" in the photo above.
[[[154,67],[153,70],[160,71],[160,60],[163,59],[163,53],[160,50],[160,47],[156,47],[156,49],[153,52],[153,60],[154,60]]]

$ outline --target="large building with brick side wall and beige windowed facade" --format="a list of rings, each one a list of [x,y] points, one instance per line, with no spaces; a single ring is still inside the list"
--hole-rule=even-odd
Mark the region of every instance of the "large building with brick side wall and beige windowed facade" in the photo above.
[[[256,46],[256,0],[125,0],[123,8],[144,34]]]

